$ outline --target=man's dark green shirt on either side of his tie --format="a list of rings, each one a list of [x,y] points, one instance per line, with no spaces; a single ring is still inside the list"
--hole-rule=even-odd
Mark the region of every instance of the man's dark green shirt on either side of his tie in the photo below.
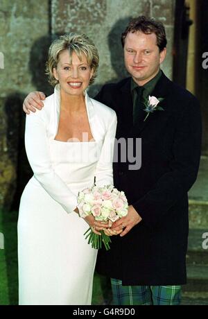
[[[157,84],[159,78],[162,76],[162,71],[159,70],[155,78],[152,78],[152,80],[148,81],[143,87],[143,98],[147,98],[155,89],[155,85]],[[131,94],[132,94],[132,101],[133,101],[133,109],[135,110],[135,102],[137,99],[137,91],[135,90],[135,87],[138,87],[138,84],[135,83],[135,81],[131,78]]]

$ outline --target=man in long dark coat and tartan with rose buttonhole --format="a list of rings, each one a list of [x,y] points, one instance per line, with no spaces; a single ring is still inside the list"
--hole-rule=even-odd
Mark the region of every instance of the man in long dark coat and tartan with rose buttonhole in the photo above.
[[[141,138],[141,168],[132,169],[121,153],[114,162],[114,186],[125,191],[129,209],[112,226],[112,233],[123,232],[112,236],[111,249],[99,250],[97,270],[111,277],[114,304],[180,304],[187,277],[187,192],[200,161],[200,108],[160,70],[166,56],[160,22],[132,19],[121,41],[131,77],[104,85],[96,99],[116,111],[117,139]],[[151,108],[149,96],[163,100]],[[29,95],[24,110],[37,106],[39,97]]]

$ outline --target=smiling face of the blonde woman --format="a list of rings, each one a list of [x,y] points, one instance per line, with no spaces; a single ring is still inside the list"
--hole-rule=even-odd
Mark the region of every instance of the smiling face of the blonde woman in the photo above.
[[[92,75],[93,69],[89,67],[85,55],[80,61],[73,52],[70,63],[68,50],[60,53],[57,67],[53,69],[53,76],[59,81],[62,93],[73,96],[83,95]]]

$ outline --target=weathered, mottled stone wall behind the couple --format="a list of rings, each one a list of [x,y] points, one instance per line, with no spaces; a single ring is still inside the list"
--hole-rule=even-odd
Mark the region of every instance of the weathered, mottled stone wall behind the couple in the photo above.
[[[33,90],[49,94],[44,75],[51,34],[86,33],[101,55],[94,96],[106,82],[124,76],[120,36],[131,17],[164,22],[168,55],[163,69],[172,76],[175,0],[1,0],[0,5],[0,207],[16,207],[31,175],[24,152],[22,101]],[[3,67],[3,68],[2,68]]]

